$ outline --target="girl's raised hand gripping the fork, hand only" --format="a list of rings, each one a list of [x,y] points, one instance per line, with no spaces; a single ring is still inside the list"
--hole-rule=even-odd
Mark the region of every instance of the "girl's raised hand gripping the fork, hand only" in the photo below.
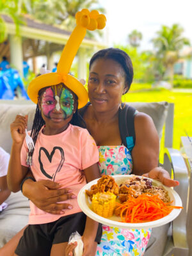
[[[10,125],[12,140],[15,143],[22,144],[26,137],[25,129],[28,125],[28,115],[17,115],[15,121]]]

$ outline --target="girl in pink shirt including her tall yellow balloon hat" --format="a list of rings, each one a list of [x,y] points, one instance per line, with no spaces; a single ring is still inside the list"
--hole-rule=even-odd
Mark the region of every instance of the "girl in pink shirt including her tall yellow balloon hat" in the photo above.
[[[106,18],[97,11],[90,13],[83,9],[76,19],[77,26],[61,54],[57,72],[44,72],[28,87],[29,98],[37,103],[30,133],[34,150],[28,152],[24,140],[27,116],[17,115],[11,124],[9,188],[18,191],[24,180],[35,178],[54,180],[68,191],[68,209],[59,215],[44,212],[30,202],[29,226],[15,251],[19,256],[63,256],[70,234],[76,231],[83,236],[83,256],[95,256],[100,242],[102,228],[86,218],[77,204],[77,194],[84,184],[100,177],[97,146],[88,131],[81,128],[83,120],[77,114],[77,108],[88,102],[88,93],[83,84],[68,73],[86,28],[104,28]],[[34,178],[26,177],[28,168]]]

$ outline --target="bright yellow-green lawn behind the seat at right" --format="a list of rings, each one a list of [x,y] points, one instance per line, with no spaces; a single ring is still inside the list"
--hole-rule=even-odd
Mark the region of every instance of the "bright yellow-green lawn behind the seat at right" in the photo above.
[[[167,101],[175,104],[173,148],[180,148],[180,137],[192,136],[192,93],[172,92],[164,89],[152,89],[150,84],[132,84],[129,93],[124,95],[125,102],[158,102]],[[161,141],[161,155],[163,156],[163,140]]]

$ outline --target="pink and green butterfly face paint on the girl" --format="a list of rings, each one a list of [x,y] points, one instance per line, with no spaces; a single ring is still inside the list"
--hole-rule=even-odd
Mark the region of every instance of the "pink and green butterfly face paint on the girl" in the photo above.
[[[74,110],[74,97],[65,87],[51,86],[42,95],[42,111],[47,118],[56,109],[63,112],[63,119],[72,115]]]

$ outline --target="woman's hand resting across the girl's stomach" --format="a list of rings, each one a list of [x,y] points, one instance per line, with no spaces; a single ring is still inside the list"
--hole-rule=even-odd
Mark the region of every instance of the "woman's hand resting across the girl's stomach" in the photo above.
[[[70,198],[76,198],[72,189],[61,188],[61,184],[51,180],[26,180],[22,186],[22,193],[39,209],[51,214],[63,214],[65,209],[72,209],[70,204],[58,204]]]

